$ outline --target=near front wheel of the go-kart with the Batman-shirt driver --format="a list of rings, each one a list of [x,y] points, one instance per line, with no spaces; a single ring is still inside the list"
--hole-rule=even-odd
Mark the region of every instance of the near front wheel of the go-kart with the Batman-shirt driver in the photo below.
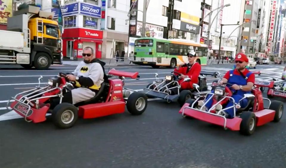
[[[77,108],[70,103],[58,104],[52,112],[53,123],[59,128],[72,127],[78,118]]]

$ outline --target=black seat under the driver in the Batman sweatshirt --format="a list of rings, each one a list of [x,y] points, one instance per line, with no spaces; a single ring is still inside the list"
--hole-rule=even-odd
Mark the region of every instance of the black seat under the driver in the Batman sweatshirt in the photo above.
[[[109,89],[109,84],[103,82],[100,86],[100,89],[95,93],[95,96],[93,98],[77,103],[75,106],[83,106],[86,104],[97,103],[100,100],[100,98],[105,97],[103,94],[108,94],[108,89]]]

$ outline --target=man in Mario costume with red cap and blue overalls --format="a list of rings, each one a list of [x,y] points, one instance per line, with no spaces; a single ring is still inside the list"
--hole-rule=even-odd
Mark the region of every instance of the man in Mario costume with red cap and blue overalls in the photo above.
[[[244,94],[250,94],[251,89],[254,86],[254,81],[255,81],[255,75],[248,69],[246,69],[246,66],[248,64],[248,58],[245,54],[243,53],[238,53],[235,56],[235,64],[236,64],[236,69],[234,70],[229,70],[221,79],[218,84],[222,85],[223,83],[230,83],[232,86],[228,86],[230,90],[233,91],[233,95],[231,96],[234,98],[236,103],[239,103],[239,101],[244,97]],[[214,93],[214,90],[212,91]],[[212,95],[208,95],[206,98],[206,101],[211,97]],[[206,104],[206,109],[209,109],[212,107],[213,100],[210,100]],[[244,108],[247,106],[248,101],[246,99],[243,99],[240,101],[240,106],[241,108]],[[202,106],[204,104],[203,101],[198,101],[198,106]],[[226,105],[225,108],[228,108],[230,106],[233,106],[233,102],[229,101],[228,104]],[[218,112],[219,110],[222,109],[222,105],[218,104],[215,107],[216,111]],[[237,110],[237,109],[236,109]],[[234,109],[230,108],[222,113],[226,118],[234,118]]]

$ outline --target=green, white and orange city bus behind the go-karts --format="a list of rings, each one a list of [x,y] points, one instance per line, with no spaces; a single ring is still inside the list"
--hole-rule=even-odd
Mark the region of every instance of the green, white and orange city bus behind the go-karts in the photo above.
[[[196,62],[207,64],[208,46],[205,44],[184,39],[138,38],[134,43],[133,64],[175,68],[183,62],[188,63],[190,51],[196,52]]]

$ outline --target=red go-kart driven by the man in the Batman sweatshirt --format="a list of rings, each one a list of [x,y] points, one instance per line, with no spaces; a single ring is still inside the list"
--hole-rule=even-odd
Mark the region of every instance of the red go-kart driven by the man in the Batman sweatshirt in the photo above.
[[[108,79],[108,83],[103,82],[100,90],[94,98],[72,105],[70,103],[61,103],[63,93],[74,88],[74,83],[69,81],[66,74],[60,73],[60,76],[49,78],[46,87],[39,86],[21,92],[15,97],[10,107],[23,116],[27,122],[40,123],[46,120],[46,114],[52,114],[53,123],[59,128],[70,128],[77,121],[78,117],[97,118],[112,114],[125,112],[125,104],[128,111],[133,115],[142,114],[147,107],[147,97],[143,93],[123,88],[125,77],[138,79],[138,72],[130,73],[124,71],[110,70],[108,78],[119,76],[118,78]],[[134,91],[130,94],[130,91]],[[52,98],[60,98],[60,104],[54,109],[50,109]]]

